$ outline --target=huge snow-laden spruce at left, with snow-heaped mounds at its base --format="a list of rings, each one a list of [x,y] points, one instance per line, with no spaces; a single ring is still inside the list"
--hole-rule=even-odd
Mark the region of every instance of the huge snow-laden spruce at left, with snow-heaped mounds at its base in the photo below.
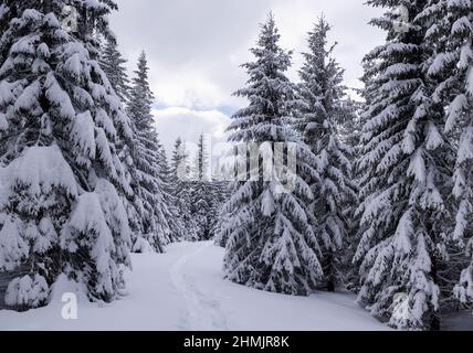
[[[61,274],[113,300],[129,264],[116,152],[128,120],[91,41],[114,3],[75,1],[76,33],[60,23],[67,4],[0,6],[0,271],[25,272],[6,296],[19,310],[45,304]]]

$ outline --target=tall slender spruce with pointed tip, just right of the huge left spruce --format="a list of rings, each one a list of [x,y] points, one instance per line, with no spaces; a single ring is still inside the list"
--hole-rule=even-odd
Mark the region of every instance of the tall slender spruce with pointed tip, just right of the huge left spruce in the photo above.
[[[133,78],[128,114],[135,130],[132,158],[135,168],[132,179],[137,183],[136,196],[140,205],[143,233],[134,239],[133,250],[137,253],[155,250],[161,253],[168,243],[170,214],[164,194],[164,171],[160,170],[158,133],[154,127],[151,105],[154,95],[148,82],[148,63],[143,52]]]

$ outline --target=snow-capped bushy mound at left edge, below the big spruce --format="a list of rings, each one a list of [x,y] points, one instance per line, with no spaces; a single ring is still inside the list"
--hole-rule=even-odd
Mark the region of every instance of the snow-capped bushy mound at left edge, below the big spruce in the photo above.
[[[63,214],[78,193],[70,165],[56,146],[32,147],[0,168],[0,270],[28,263],[53,281]]]

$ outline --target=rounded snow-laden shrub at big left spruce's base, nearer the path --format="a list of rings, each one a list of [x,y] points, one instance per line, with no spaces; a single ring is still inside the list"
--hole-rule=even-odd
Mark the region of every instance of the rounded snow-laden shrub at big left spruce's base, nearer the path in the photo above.
[[[91,212],[93,210],[93,212]],[[61,247],[72,254],[72,278],[84,281],[91,293],[111,300],[122,286],[119,264],[129,263],[130,243],[126,212],[115,188],[99,180],[95,192],[77,197],[61,233]]]

